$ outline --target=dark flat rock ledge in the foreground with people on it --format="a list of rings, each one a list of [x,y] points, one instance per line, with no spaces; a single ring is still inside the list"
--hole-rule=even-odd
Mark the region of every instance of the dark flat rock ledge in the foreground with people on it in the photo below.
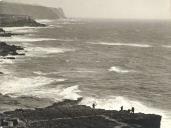
[[[65,100],[46,108],[17,109],[1,118],[19,120],[20,128],[160,128],[161,116],[92,109],[78,100]]]

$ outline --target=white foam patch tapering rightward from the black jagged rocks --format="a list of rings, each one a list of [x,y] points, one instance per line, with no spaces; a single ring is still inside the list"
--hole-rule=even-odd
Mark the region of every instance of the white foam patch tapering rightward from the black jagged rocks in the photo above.
[[[32,57],[44,57],[48,54],[65,53],[69,51],[74,51],[73,49],[66,48],[54,48],[54,47],[27,47],[25,48],[26,56]]]

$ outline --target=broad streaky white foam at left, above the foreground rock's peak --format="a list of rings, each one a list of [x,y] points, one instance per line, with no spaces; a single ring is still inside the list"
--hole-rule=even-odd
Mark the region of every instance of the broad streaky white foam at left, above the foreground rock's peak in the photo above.
[[[18,78],[4,76],[0,80],[0,92],[11,97],[31,96],[38,98],[49,98],[54,101],[63,99],[76,100],[80,97],[79,86],[64,87],[63,85],[50,88],[48,85],[56,82],[64,82],[66,79],[52,79],[47,77]]]

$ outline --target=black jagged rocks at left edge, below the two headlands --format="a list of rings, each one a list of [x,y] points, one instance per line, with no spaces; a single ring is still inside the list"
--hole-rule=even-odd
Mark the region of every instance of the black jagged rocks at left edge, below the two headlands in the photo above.
[[[23,50],[23,48],[20,46],[8,45],[4,42],[0,42],[0,56],[21,55],[17,53],[17,50]]]

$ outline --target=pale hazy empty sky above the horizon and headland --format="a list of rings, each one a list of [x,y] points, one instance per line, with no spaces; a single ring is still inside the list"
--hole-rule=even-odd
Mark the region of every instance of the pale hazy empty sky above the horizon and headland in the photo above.
[[[3,0],[62,7],[67,17],[171,18],[171,0]]]

